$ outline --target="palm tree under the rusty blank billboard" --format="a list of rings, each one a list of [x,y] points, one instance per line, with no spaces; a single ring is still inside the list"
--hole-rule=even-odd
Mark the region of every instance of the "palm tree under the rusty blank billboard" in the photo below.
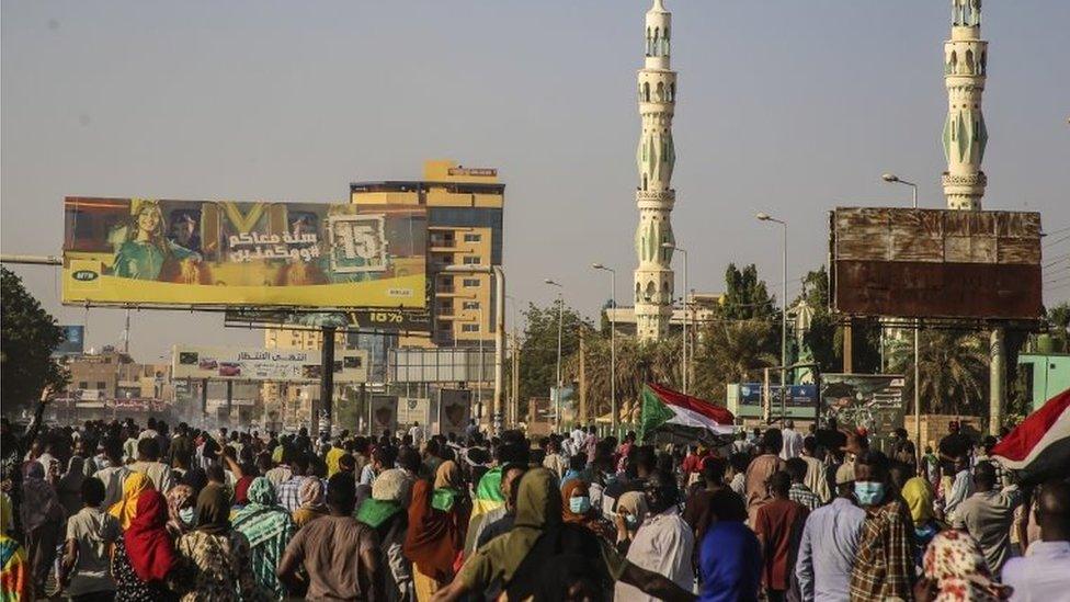
[[[910,339],[893,341],[889,363],[892,371],[907,374],[907,390],[914,386]],[[964,330],[922,331],[919,339],[920,398],[927,400],[927,410],[953,414],[982,411],[989,362],[984,339]]]

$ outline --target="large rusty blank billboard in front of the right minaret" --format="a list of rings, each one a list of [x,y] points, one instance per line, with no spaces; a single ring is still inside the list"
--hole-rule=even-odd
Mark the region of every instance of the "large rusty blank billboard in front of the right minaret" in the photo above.
[[[1035,320],[1040,214],[836,208],[831,298],[851,316]]]

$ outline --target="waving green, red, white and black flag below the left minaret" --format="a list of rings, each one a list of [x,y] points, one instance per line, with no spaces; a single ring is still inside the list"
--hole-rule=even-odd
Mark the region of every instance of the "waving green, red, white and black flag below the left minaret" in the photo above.
[[[639,439],[669,432],[684,439],[709,440],[732,434],[732,412],[709,401],[653,384],[642,387]]]

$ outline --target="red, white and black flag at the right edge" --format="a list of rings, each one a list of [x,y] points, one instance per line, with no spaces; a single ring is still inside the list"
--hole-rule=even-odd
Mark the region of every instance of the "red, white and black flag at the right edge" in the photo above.
[[[1070,389],[1048,399],[992,448],[1026,482],[1070,474]]]

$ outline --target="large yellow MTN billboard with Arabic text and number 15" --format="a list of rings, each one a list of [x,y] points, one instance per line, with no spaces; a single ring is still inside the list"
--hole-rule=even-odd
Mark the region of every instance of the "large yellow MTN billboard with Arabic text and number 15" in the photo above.
[[[65,304],[426,306],[422,207],[67,197]]]

